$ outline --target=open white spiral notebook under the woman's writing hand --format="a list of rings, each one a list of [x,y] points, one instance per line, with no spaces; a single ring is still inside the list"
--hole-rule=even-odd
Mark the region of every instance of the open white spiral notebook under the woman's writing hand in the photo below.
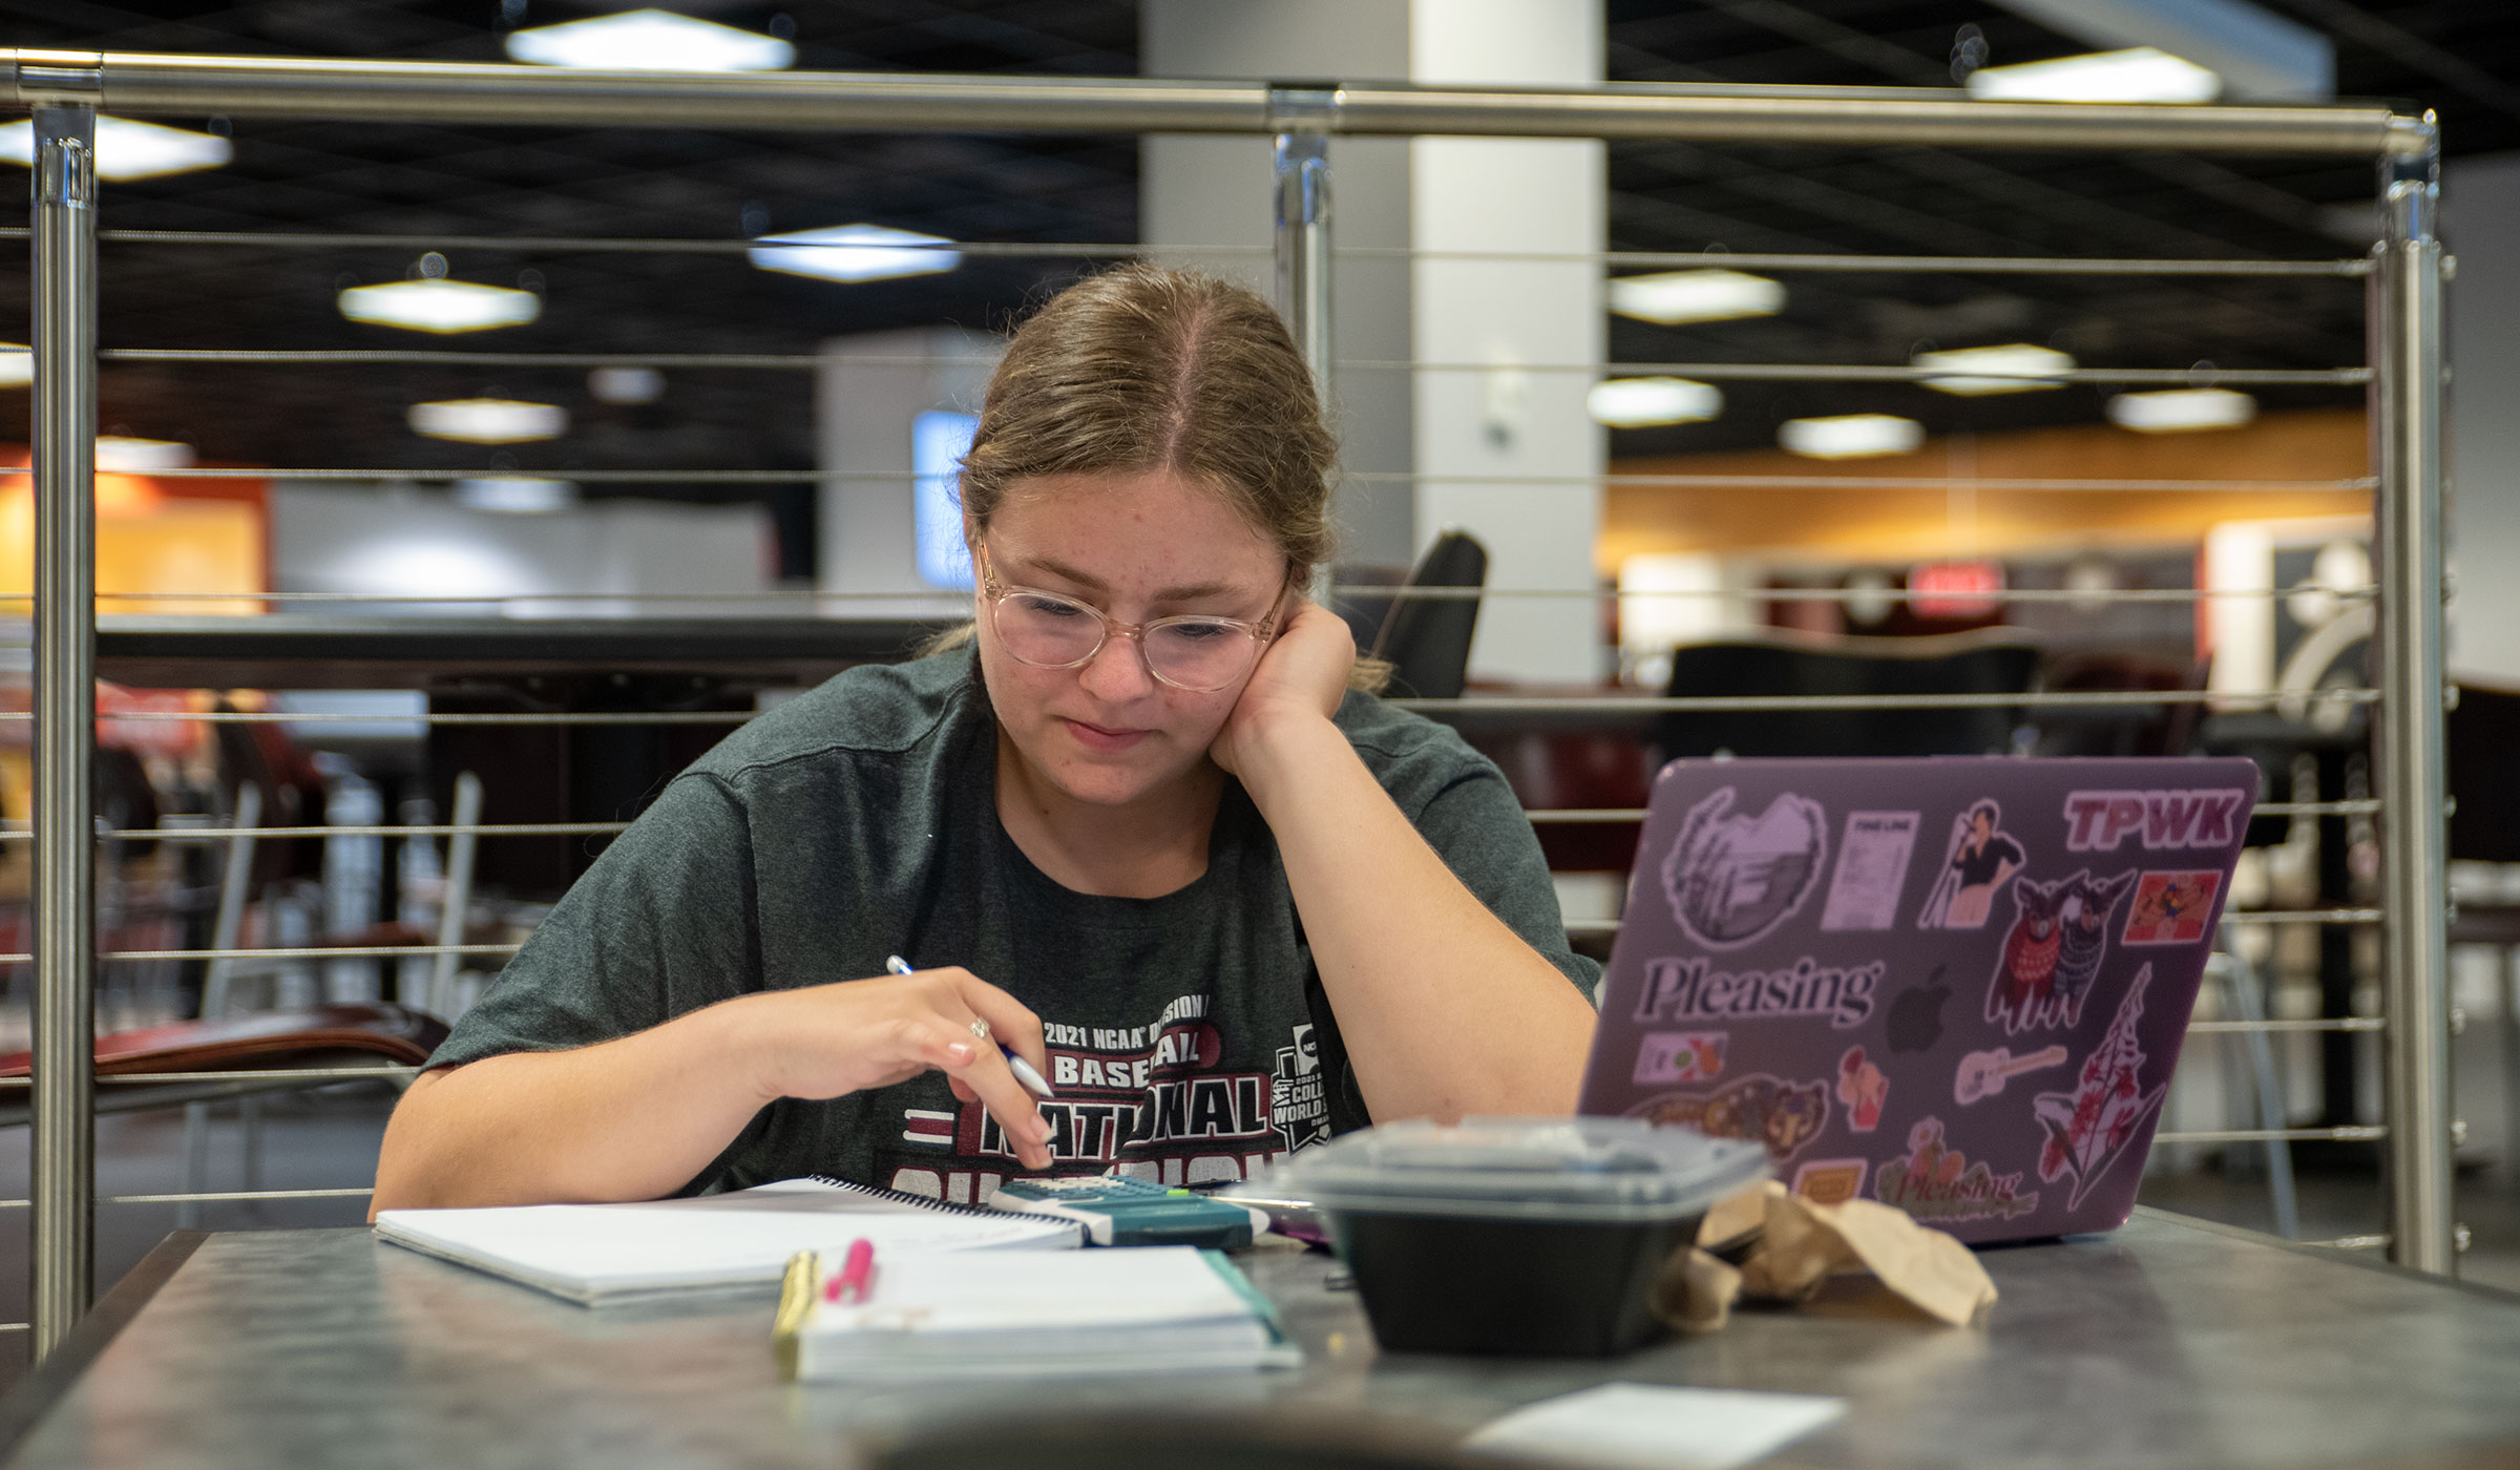
[[[779,1286],[799,1251],[874,1241],[892,1261],[927,1251],[1074,1248],[1074,1220],[940,1205],[842,1180],[784,1180],[726,1195],[635,1205],[383,1210],[375,1236],[580,1306],[685,1291]]]

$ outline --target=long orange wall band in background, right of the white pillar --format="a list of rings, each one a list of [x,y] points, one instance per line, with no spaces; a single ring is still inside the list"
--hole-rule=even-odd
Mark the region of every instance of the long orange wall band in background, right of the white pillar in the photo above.
[[[1782,449],[1618,459],[1613,474],[1794,477],[1812,487],[1613,482],[1595,565],[1615,577],[1646,552],[1910,562],[2187,547],[2233,519],[2366,517],[2361,408],[2263,414],[2240,429],[2134,434],[2112,424],[1961,434],[1915,454],[1802,459]],[[1830,482],[1845,479],[1837,487]],[[1862,484],[1930,479],[1933,484]],[[1988,479],[2215,479],[2245,489],[1993,489]],[[2339,484],[2346,482],[2346,484]]]

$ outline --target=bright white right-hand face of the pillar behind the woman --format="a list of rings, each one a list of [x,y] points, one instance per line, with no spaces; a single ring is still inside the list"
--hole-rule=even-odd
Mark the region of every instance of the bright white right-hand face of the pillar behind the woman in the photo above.
[[[1409,81],[1593,86],[1598,0],[1411,0]],[[1605,439],[1585,414],[1600,363],[1603,272],[1593,260],[1429,260],[1449,250],[1580,252],[1608,240],[1603,146],[1590,139],[1414,139],[1409,229],[1416,373],[1416,537],[1462,527],[1487,542],[1492,587],[1590,587]],[[1348,194],[1338,194],[1346,207]],[[1512,484],[1527,474],[1532,482]],[[1462,479],[1446,479],[1462,477]],[[1507,477],[1504,484],[1474,484]],[[1580,479],[1580,484],[1547,484]],[[1580,683],[1600,676],[1590,600],[1492,600],[1472,678]]]

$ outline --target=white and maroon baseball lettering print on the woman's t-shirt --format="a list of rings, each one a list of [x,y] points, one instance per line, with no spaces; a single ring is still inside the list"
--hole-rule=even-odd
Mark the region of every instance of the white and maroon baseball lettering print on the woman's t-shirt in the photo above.
[[[1210,996],[1179,996],[1147,1026],[1043,1021],[1051,1172],[1121,1172],[1162,1185],[1232,1183],[1268,1160],[1331,1137],[1331,1102],[1313,1026],[1293,1026],[1273,1072],[1230,1072],[1232,1051]],[[890,1188],[983,1203],[1023,1172],[1005,1130],[980,1102],[955,1112],[902,1109],[910,1150],[879,1150]]]

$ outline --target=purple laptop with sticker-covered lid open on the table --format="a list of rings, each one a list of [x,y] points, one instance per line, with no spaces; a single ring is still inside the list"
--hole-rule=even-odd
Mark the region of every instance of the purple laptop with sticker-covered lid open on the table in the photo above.
[[[1671,761],[1580,1112],[1963,1241],[2114,1230],[2255,792],[2245,759]]]

